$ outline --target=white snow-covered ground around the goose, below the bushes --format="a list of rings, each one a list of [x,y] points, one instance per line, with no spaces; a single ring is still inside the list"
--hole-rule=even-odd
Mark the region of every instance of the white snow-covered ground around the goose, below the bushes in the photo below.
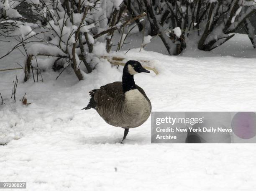
[[[133,38],[136,39],[136,38]],[[256,51],[237,34],[212,52],[187,50],[168,56],[158,39],[130,59],[150,60],[158,75],[138,74],[152,111],[255,111]],[[0,55],[15,42],[0,42]],[[134,42],[138,47],[141,42]],[[17,50],[0,69],[19,67]],[[150,118],[130,130],[81,110],[88,92],[121,81],[107,61],[78,81],[73,71],[43,73],[44,82],[23,83],[23,71],[0,72],[0,181],[26,181],[29,191],[252,191],[256,187],[254,144],[151,144]],[[18,76],[17,101],[10,99]],[[28,106],[19,100],[27,94]]]

